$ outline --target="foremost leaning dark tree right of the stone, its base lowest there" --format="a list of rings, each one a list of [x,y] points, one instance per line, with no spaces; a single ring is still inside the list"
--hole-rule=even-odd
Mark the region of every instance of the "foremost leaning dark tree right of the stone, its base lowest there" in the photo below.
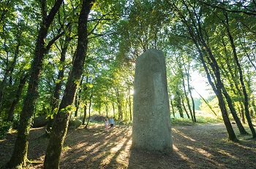
[[[214,53],[211,47],[208,45],[208,32],[206,26],[203,24],[203,7],[192,1],[175,3],[173,1],[167,1],[169,7],[176,12],[179,19],[184,23],[187,28],[189,39],[195,44],[197,52],[199,53],[200,61],[206,71],[209,84],[214,90],[219,100],[219,108],[222,111],[222,118],[225,122],[225,126],[228,133],[228,138],[231,141],[237,141],[236,134],[233,131],[233,127],[230,124],[230,119],[227,114],[225,106],[225,100],[222,96],[222,79],[219,71],[219,65],[217,59],[214,58]],[[184,9],[179,8],[180,5],[184,6]],[[208,66],[208,65],[209,66]],[[212,81],[214,79],[214,81]]]

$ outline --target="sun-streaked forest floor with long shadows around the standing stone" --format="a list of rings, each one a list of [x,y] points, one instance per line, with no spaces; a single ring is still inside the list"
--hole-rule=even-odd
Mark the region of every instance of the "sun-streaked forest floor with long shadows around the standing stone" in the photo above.
[[[233,124],[238,135],[238,128]],[[249,128],[246,127],[249,132]],[[48,138],[45,128],[32,129],[28,168],[42,168]],[[256,168],[256,140],[241,136],[238,143],[227,141],[223,123],[173,125],[173,152],[170,156],[139,152],[131,148],[132,127],[116,125],[105,131],[103,125],[68,130],[60,168]],[[0,140],[0,167],[10,160],[16,133]]]

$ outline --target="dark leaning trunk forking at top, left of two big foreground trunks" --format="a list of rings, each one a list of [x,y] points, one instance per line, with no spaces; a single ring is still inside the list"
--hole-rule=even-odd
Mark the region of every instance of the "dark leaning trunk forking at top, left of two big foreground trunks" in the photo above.
[[[37,87],[39,83],[39,75],[42,69],[42,60],[45,54],[45,37],[48,34],[48,28],[53,18],[58,12],[63,0],[57,0],[48,16],[43,15],[42,26],[37,37],[36,48],[34,51],[34,59],[30,68],[29,87],[26,98],[23,101],[23,109],[20,113],[20,123],[18,125],[18,135],[15,142],[14,152],[7,168],[15,168],[16,166],[26,165],[27,152],[29,145],[29,128],[31,127],[34,104],[37,100]],[[42,1],[42,9],[45,10],[45,1]]]

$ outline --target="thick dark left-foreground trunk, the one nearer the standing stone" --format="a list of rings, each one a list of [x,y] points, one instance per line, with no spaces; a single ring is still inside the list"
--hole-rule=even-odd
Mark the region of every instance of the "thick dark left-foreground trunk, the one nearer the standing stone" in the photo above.
[[[53,124],[50,141],[45,154],[45,169],[59,168],[61,157],[61,149],[64,143],[64,138],[67,134],[70,111],[75,99],[75,92],[78,88],[78,82],[83,74],[83,66],[86,59],[88,47],[87,23],[93,0],[83,0],[82,8],[78,20],[78,47],[77,54],[72,66],[72,71],[67,79],[66,89],[59,106],[59,111],[56,120]]]

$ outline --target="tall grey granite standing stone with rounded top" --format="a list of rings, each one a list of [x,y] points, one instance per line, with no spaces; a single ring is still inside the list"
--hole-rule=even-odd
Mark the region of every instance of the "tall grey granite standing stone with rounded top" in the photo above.
[[[170,154],[173,140],[165,56],[161,50],[147,50],[137,58],[134,90],[132,147]]]

